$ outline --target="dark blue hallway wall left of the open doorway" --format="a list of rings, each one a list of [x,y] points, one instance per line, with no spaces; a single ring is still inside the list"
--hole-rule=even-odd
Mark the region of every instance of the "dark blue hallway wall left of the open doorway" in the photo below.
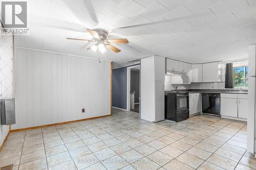
[[[134,64],[139,65],[139,64]],[[129,65],[132,66],[132,65]],[[127,67],[112,70],[112,106],[126,109]]]

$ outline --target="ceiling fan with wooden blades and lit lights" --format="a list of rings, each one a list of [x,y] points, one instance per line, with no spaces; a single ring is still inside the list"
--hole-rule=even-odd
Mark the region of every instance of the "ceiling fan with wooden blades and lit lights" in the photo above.
[[[106,48],[109,48],[115,53],[119,53],[121,51],[117,47],[111,45],[111,43],[121,43],[121,44],[129,43],[129,41],[124,38],[123,39],[107,39],[109,32],[103,29],[94,29],[94,30],[87,29],[87,31],[93,36],[92,40],[78,39],[78,38],[67,38],[67,39],[96,42],[96,44],[93,44],[90,47],[88,47],[87,50],[92,50],[93,52],[96,52],[97,50],[99,50],[101,54],[104,54],[106,52]]]

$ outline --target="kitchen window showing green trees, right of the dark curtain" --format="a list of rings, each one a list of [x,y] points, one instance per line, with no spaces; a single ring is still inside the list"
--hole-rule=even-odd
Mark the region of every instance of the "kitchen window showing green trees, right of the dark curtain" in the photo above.
[[[248,66],[233,67],[234,87],[248,87]]]

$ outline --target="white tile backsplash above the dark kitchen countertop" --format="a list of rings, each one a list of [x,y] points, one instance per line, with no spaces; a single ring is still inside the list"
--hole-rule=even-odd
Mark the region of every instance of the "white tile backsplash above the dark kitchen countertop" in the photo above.
[[[172,77],[165,76],[164,90],[189,90],[189,89],[202,89],[202,90],[218,90],[225,89],[225,82],[212,82],[212,83],[191,83],[191,84],[172,84]]]

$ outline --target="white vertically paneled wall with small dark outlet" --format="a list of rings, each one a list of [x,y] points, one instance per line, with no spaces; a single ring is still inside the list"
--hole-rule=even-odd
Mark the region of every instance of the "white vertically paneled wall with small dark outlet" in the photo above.
[[[12,129],[111,114],[111,62],[23,48],[15,54]]]

